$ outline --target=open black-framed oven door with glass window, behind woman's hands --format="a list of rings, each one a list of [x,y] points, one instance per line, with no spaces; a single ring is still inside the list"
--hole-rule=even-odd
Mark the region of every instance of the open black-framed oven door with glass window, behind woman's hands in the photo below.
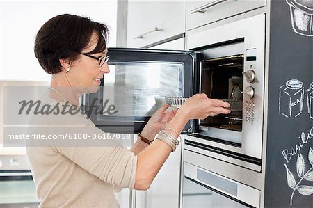
[[[164,97],[191,97],[198,93],[196,55],[193,51],[109,48],[110,73],[104,74],[97,93],[85,95],[85,112],[97,127],[111,133],[141,132]],[[126,99],[125,97],[128,97]],[[121,106],[114,115],[90,113],[95,105]],[[111,106],[112,107],[112,106]],[[88,113],[86,113],[88,114]],[[189,121],[183,132],[193,131]]]

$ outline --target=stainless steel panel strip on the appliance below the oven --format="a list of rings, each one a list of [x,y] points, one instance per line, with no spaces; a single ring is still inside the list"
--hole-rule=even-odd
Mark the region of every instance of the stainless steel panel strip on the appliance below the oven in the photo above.
[[[246,184],[255,189],[261,190],[262,188],[262,174],[257,171],[215,159],[214,157],[207,157],[203,154],[191,152],[190,150],[184,150],[183,154],[184,162],[209,170],[212,173],[223,175],[223,177]]]

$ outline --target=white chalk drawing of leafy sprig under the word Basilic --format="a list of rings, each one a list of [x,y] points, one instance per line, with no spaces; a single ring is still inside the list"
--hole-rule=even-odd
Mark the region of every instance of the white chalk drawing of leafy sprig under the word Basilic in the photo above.
[[[299,181],[296,182],[294,175],[291,173],[287,164],[284,164],[287,172],[287,184],[291,189],[294,189],[291,193],[290,197],[290,205],[292,205],[292,200],[294,198],[294,193],[298,191],[298,193],[302,195],[311,195],[313,193],[313,186],[304,185],[303,182],[313,182],[313,150],[310,148],[308,159],[311,165],[311,168],[305,172],[305,160],[301,153],[298,154],[296,169],[298,173],[298,177],[300,177]],[[305,181],[303,181],[303,179]]]

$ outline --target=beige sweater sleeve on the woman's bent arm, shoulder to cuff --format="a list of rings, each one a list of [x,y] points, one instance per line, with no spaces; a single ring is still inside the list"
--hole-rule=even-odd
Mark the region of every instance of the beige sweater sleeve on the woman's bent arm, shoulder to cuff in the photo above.
[[[57,102],[48,102],[56,105]],[[95,175],[103,182],[119,188],[134,189],[136,179],[137,156],[123,147],[117,140],[93,139],[94,135],[104,132],[82,113],[50,113],[36,115],[33,125],[36,132],[65,136],[64,140],[33,141],[33,147],[51,147],[56,153],[70,159],[88,173]],[[84,136],[84,139],[70,139],[69,135]]]

